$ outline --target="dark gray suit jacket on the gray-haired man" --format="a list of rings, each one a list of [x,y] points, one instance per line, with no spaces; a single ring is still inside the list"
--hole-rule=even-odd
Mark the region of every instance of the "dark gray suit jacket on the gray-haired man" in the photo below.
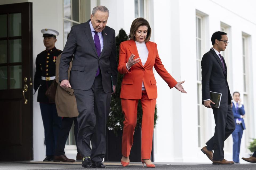
[[[61,55],[59,81],[68,79],[69,63],[73,58],[70,84],[73,89],[89,90],[94,82],[98,66],[101,69],[102,85],[105,93],[111,92],[117,84],[117,50],[114,29],[106,26],[102,31],[103,49],[98,57],[89,21],[71,27],[69,38]]]

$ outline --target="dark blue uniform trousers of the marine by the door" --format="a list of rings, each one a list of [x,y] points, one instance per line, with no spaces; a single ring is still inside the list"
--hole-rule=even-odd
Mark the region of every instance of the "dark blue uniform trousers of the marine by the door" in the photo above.
[[[61,128],[61,117],[57,114],[55,103],[39,103],[43,128],[45,130],[46,156],[54,155],[57,137]]]

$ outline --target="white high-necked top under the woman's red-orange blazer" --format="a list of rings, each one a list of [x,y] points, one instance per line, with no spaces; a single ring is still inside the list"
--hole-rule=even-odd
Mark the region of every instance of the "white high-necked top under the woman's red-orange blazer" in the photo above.
[[[149,50],[147,49],[145,42],[139,43],[139,42],[135,41],[135,43],[136,43],[137,50],[139,53],[139,58],[141,60],[142,65],[144,66],[147,61],[147,57],[149,56]],[[127,68],[127,70],[130,70],[131,67],[129,68],[126,63],[126,68]],[[146,90],[143,81],[142,81],[141,90]]]

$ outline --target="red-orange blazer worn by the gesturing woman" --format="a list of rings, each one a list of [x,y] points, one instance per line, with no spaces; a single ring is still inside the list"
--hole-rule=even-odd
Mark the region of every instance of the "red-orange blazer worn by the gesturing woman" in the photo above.
[[[130,70],[126,69],[131,54],[134,54],[134,59],[139,57],[137,46],[134,40],[127,40],[120,44],[119,49],[119,64],[117,70],[121,74],[125,74],[121,85],[120,98],[123,99],[141,99],[142,80],[149,99],[157,98],[157,85],[153,73],[153,67],[157,73],[165,80],[170,88],[173,88],[177,82],[171,77],[163,66],[157,51],[157,44],[153,42],[146,42],[149,56],[143,66],[141,61],[133,65]]]

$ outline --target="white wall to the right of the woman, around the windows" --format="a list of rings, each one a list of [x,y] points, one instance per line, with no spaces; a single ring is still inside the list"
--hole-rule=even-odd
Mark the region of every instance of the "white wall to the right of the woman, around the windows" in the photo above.
[[[204,19],[205,52],[209,51],[212,46],[210,42],[211,35],[220,30],[221,22],[231,26],[230,35],[228,35],[230,44],[227,48],[231,48],[229,49],[231,61],[229,68],[233,70],[233,73],[230,73],[233,82],[229,82],[229,84],[234,91],[243,92],[242,32],[251,35],[251,46],[254,46],[255,19],[250,20],[253,19],[251,17],[252,13],[249,14],[247,11],[252,6],[255,6],[255,2],[250,1],[251,4],[246,3],[248,1],[245,1],[245,3],[241,3],[241,1],[239,1],[240,3],[225,1],[224,4],[222,2],[174,0],[161,1],[159,3],[159,1],[154,1],[154,33],[159,55],[166,69],[170,71],[177,81],[185,80],[183,87],[188,92],[187,94],[180,94],[175,89],[169,90],[166,87],[166,83],[156,75],[158,84],[157,105],[159,108],[159,119],[155,130],[155,135],[157,136],[155,161],[157,162],[167,160],[175,162],[209,162],[206,156],[201,153],[197,139],[196,10],[208,15]],[[225,6],[223,7],[223,5]],[[250,17],[247,17],[249,15]],[[251,48],[251,56],[255,56],[255,52],[255,49]],[[231,56],[231,54],[233,55]],[[250,57],[250,87],[253,87],[255,82],[253,63],[255,63],[254,58]],[[250,95],[254,96],[254,90],[250,89],[250,91],[253,92]],[[170,101],[172,101],[172,104],[170,104]],[[251,97],[250,104],[255,104],[253,97]],[[255,137],[254,111],[254,108],[247,111],[247,114],[252,114],[251,117],[254,118],[254,120],[250,120],[250,126],[249,124],[247,126],[248,129],[251,128],[254,131],[250,137]],[[207,131],[206,142],[213,135],[214,120],[210,109],[206,109],[205,114],[208,114],[205,118],[206,126],[204,127]],[[170,125],[173,125],[173,128]],[[170,134],[173,135],[173,139],[170,138]],[[231,138],[230,136],[225,142],[228,144],[225,148],[225,158],[229,160],[232,160],[233,141]],[[244,142],[241,145],[240,156],[248,156]]]

